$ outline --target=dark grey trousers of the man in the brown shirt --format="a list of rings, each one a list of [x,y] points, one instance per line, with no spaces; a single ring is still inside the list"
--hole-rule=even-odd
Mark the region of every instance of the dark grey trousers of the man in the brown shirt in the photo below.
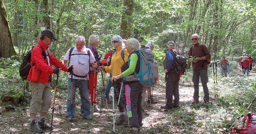
[[[203,70],[193,70],[193,84],[194,84],[194,94],[193,94],[193,100],[199,101],[199,77],[203,86],[204,91],[204,101],[209,101],[209,90],[207,87],[208,83],[208,75],[207,75],[207,69]]]

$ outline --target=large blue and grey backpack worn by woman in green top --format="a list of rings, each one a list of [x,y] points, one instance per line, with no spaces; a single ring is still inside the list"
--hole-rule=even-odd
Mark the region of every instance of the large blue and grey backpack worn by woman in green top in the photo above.
[[[140,58],[140,70],[134,75],[139,78],[139,82],[144,87],[151,87],[155,84],[155,79],[158,78],[157,64],[154,62],[154,54],[148,48],[141,48],[138,51]]]

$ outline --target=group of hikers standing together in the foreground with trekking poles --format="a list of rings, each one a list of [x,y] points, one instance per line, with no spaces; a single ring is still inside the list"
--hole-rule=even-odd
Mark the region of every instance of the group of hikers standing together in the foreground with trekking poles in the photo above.
[[[81,116],[85,120],[93,120],[91,117],[91,107],[93,111],[100,111],[96,105],[96,86],[97,75],[101,71],[110,74],[108,85],[105,88],[105,102],[111,103],[109,99],[110,87],[114,87],[114,98],[119,100],[119,120],[115,122],[116,125],[129,124],[130,133],[139,133],[142,124],[142,105],[146,98],[146,91],[148,91],[149,103],[157,103],[154,100],[152,89],[143,87],[138,80],[128,81],[124,77],[128,77],[138,73],[140,69],[140,58],[137,51],[141,49],[141,44],[137,39],[130,38],[124,40],[119,35],[114,35],[111,43],[114,51],[109,55],[110,60],[101,61],[102,54],[98,53],[99,36],[89,36],[89,46],[86,47],[84,36],[78,36],[75,41],[76,46],[67,50],[63,61],[59,61],[54,57],[47,48],[51,43],[57,40],[53,32],[49,29],[41,32],[38,45],[43,48],[46,53],[46,58],[41,56],[42,50],[40,47],[33,47],[31,55],[32,68],[29,72],[27,80],[31,81],[31,102],[30,102],[30,131],[41,133],[43,129],[53,130],[54,127],[46,123],[45,117],[51,107],[51,82],[52,73],[58,75],[60,70],[70,72],[68,73],[68,88],[67,88],[67,121],[75,120],[75,92],[77,88],[80,91],[81,98]],[[207,87],[207,59],[211,57],[209,50],[204,44],[199,44],[198,34],[191,36],[193,46],[190,48],[188,55],[194,57],[192,62],[193,69],[193,102],[199,103],[199,79],[201,80],[204,91],[204,103],[209,102],[209,90]],[[150,50],[154,49],[154,43],[148,42],[143,45],[144,48]],[[124,49],[125,48],[125,49]],[[165,98],[164,106],[161,106],[165,111],[179,107],[179,79],[181,73],[175,71],[176,62],[175,54],[178,51],[175,49],[175,42],[168,41],[166,45],[167,51],[163,61],[165,72]],[[126,62],[129,59],[129,62]],[[110,64],[107,66],[107,62]],[[66,66],[66,63],[68,65]],[[55,68],[52,68],[52,65]],[[155,79],[157,82],[157,79]],[[122,86],[123,85],[123,86]],[[124,88],[122,88],[124,87]],[[121,93],[120,93],[121,92]],[[91,99],[90,99],[91,96]],[[173,98],[174,97],[174,98]],[[114,101],[113,101],[114,103]],[[147,102],[148,103],[148,102]],[[37,113],[40,113],[37,121]],[[129,123],[128,123],[129,122]]]

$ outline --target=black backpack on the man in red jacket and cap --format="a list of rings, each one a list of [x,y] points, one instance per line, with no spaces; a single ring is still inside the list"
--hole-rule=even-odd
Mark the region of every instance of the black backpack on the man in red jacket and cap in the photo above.
[[[42,50],[42,56],[44,57],[44,59],[46,59],[46,54],[44,53],[43,48],[37,44],[36,46],[33,46],[32,49],[34,47],[39,47]],[[31,69],[30,62],[31,62],[31,53],[32,53],[32,49],[30,49],[26,55],[23,56],[22,58],[22,64],[20,64],[19,66],[19,76],[22,77],[23,80],[27,79],[27,76],[29,76],[29,71]]]

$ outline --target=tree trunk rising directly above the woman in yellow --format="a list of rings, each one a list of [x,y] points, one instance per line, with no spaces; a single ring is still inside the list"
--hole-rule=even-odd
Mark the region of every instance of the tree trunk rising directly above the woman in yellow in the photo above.
[[[130,38],[131,29],[132,29],[132,14],[133,14],[133,7],[134,2],[133,0],[124,0],[123,1],[123,14],[121,20],[121,33],[120,36],[123,39]]]

